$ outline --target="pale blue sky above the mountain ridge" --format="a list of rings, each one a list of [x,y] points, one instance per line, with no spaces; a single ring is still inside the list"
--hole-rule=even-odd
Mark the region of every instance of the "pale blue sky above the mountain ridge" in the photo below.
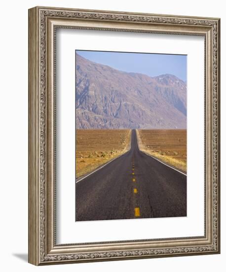
[[[76,50],[76,53],[120,71],[142,73],[151,77],[172,74],[187,81],[187,55],[86,50]]]

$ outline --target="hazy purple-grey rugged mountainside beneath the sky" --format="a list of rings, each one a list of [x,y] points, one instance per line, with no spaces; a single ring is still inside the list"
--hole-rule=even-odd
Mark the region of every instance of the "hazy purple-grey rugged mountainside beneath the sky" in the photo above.
[[[94,63],[76,54],[76,129],[185,129],[186,83]]]

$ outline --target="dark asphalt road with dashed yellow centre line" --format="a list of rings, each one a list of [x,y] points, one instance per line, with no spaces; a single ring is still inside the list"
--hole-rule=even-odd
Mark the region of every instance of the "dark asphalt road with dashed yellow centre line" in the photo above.
[[[75,185],[75,220],[187,216],[187,176],[131,149]]]

